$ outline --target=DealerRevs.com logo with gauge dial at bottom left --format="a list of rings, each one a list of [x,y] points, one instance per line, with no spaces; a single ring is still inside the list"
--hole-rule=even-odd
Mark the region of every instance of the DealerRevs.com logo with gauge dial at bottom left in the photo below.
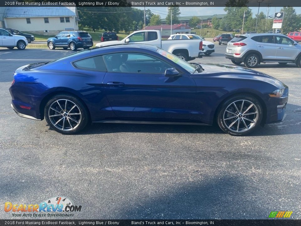
[[[54,197],[37,204],[14,204],[5,202],[4,211],[13,217],[73,217],[82,206],[73,205],[70,199]]]

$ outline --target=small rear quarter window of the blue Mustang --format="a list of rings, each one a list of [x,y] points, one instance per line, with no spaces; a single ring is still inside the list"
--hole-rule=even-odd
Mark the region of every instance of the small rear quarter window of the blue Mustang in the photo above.
[[[75,67],[83,70],[106,72],[106,66],[103,62],[103,56],[93,56],[73,63]]]

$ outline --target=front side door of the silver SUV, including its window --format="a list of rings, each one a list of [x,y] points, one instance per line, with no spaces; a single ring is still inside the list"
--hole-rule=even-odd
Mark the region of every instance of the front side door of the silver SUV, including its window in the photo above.
[[[297,46],[294,41],[282,35],[275,35],[277,40],[277,60],[295,60],[298,55]]]

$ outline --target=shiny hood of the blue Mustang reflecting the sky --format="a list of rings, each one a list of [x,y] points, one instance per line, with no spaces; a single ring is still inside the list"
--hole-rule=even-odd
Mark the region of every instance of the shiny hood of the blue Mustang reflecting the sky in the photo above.
[[[204,68],[202,73],[193,74],[202,77],[219,77],[219,78],[233,78],[233,79],[248,79],[248,80],[259,80],[267,82],[277,86],[279,89],[286,88],[287,86],[279,81],[278,79],[267,75],[262,72],[258,72],[249,68],[230,65],[230,64],[201,64]]]

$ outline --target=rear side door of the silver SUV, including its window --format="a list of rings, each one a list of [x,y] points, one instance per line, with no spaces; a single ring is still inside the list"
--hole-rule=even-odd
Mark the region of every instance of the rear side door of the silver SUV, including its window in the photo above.
[[[256,39],[257,50],[261,53],[264,60],[275,60],[277,45],[274,35],[261,35]]]

